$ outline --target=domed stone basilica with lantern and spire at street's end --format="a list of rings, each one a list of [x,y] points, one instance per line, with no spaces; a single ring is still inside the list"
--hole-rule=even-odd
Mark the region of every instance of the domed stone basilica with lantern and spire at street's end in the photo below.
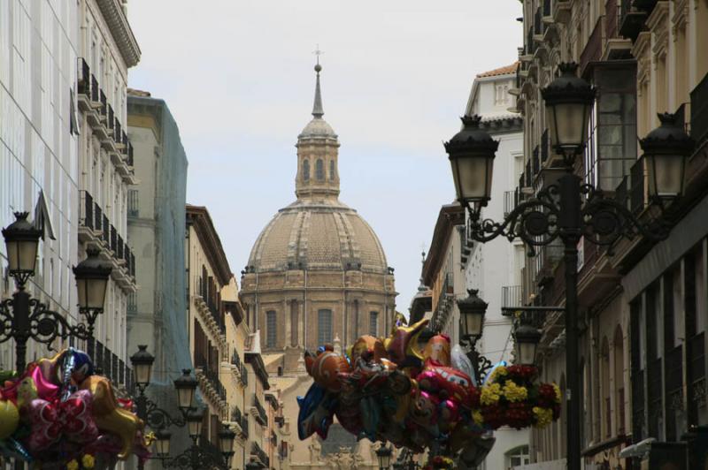
[[[337,445],[297,439],[296,396],[312,383],[304,351],[364,334],[384,336],[395,313],[396,290],[379,239],[358,213],[338,199],[339,141],[322,116],[319,64],[312,120],[297,138],[296,201],[266,225],[242,271],[241,301],[259,341],[274,390],[281,391],[278,431],[283,468],[327,466]],[[336,434],[341,428],[333,425]],[[347,440],[360,468],[375,465],[367,441]],[[350,442],[351,441],[351,442]],[[331,455],[330,455],[331,454]],[[330,459],[330,460],[327,460]]]

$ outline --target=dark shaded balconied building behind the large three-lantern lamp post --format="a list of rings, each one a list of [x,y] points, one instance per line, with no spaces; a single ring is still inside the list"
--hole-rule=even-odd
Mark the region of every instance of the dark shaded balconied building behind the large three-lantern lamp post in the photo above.
[[[519,193],[537,193],[558,178],[544,122],[540,89],[560,62],[574,61],[597,88],[589,142],[575,171],[616,198],[640,220],[657,212],[647,201],[647,181],[637,145],[658,126],[657,113],[676,113],[696,140],[687,163],[685,196],[666,213],[669,239],[620,240],[611,256],[588,239],[579,248],[581,324],[581,447],[586,467],[634,468],[658,456],[634,444],[652,437],[663,455],[676,457],[689,441],[700,468],[691,425],[704,425],[706,251],[706,90],[708,4],[702,0],[538,2],[524,7],[524,47],[519,49],[517,109],[524,117],[525,168]],[[523,299],[562,305],[563,266],[540,254],[525,269]],[[565,389],[562,315],[543,322],[543,379]],[[534,468],[565,465],[566,416],[535,430]],[[666,443],[666,444],[663,444]],[[671,453],[677,452],[677,453]],[[634,466],[633,466],[634,465]],[[530,468],[529,467],[529,468]],[[683,468],[684,466],[680,466]]]

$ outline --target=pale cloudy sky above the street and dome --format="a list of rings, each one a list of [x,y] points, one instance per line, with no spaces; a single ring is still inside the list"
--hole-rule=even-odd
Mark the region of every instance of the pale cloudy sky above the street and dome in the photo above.
[[[131,0],[142,57],[128,86],[170,108],[187,201],[209,209],[239,279],[258,233],[295,200],[319,45],[340,199],[381,239],[407,314],[421,250],[455,195],[443,141],[474,76],[516,60],[519,16],[516,0]]]

